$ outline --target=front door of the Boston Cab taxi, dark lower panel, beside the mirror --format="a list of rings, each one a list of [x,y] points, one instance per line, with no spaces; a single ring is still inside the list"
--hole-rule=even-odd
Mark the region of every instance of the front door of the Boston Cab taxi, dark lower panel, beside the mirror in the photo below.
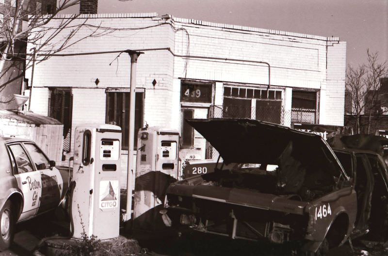
[[[55,209],[61,200],[63,180],[59,170],[51,167],[49,158],[34,143],[24,142],[42,182],[42,196],[37,213]]]

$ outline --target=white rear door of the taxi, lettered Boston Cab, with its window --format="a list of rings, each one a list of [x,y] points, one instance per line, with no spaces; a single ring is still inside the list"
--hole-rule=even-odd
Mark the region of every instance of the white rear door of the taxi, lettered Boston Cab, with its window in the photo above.
[[[30,156],[21,143],[7,145],[10,155],[16,163],[14,176],[19,189],[23,193],[23,210],[19,220],[36,215],[42,195],[40,173],[34,168]]]

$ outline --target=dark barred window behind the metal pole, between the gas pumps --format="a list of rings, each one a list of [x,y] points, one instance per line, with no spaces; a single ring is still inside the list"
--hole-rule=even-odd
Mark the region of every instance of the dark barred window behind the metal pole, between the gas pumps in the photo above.
[[[135,133],[134,149],[137,147],[137,132],[143,127],[144,91],[135,94]],[[129,92],[107,91],[106,123],[115,124],[122,129],[122,149],[128,150],[129,136]]]

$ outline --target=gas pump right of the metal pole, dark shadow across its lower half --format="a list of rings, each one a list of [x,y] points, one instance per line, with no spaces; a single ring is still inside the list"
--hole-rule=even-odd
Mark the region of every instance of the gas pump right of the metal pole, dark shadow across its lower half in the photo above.
[[[168,185],[178,179],[179,133],[159,127],[139,130],[133,228],[164,228],[160,210]]]

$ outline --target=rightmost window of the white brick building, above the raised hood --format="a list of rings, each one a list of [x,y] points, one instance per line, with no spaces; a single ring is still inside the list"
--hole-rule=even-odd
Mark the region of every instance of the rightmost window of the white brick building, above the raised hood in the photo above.
[[[316,123],[317,92],[292,90],[291,122]]]

